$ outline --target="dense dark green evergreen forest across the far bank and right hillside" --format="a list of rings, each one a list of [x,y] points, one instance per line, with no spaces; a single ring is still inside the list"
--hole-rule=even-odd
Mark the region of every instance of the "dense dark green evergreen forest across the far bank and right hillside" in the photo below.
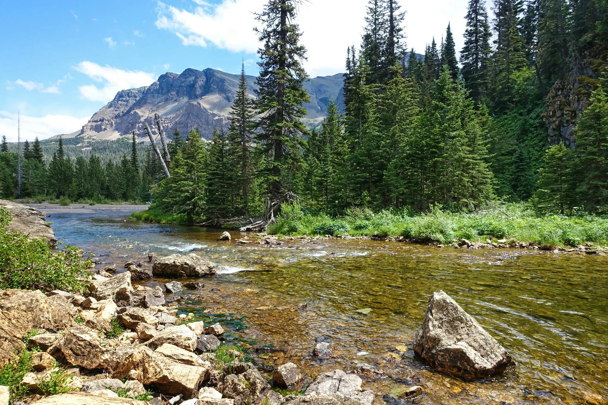
[[[241,75],[227,131],[216,129],[209,143],[196,129],[176,132],[171,177],[162,181],[153,159],[140,165],[140,152],[131,160],[139,176],[128,172],[128,155],[121,159],[123,176],[137,179],[139,198],[155,201],[156,213],[219,223],[268,221],[285,202],[339,215],[354,207],[474,211],[497,200],[530,202],[539,213],[606,213],[608,0],[494,0],[491,13],[471,0],[460,60],[449,25],[418,58],[407,50],[398,2],[370,0],[364,35],[353,38],[361,46],[347,50],[344,100],[331,102],[313,130],[304,123],[296,3],[270,1],[258,17],[256,97]],[[56,153],[41,169],[55,182]],[[14,180],[8,156],[4,172]],[[51,194],[78,184],[71,164],[74,174]],[[15,196],[14,181],[3,185]]]

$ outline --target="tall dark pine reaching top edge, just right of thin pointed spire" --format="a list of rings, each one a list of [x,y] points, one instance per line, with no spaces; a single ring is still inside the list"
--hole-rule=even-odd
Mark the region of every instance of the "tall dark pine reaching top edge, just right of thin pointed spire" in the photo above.
[[[469,0],[466,14],[465,46],[460,52],[462,77],[475,103],[480,103],[488,89],[492,34],[484,0]]]

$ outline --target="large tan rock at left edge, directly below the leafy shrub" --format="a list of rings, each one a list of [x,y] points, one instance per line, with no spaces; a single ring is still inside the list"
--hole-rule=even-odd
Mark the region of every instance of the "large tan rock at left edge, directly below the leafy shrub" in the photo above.
[[[41,291],[0,290],[0,367],[32,329],[59,332],[74,322],[76,308],[64,296],[47,297]]]

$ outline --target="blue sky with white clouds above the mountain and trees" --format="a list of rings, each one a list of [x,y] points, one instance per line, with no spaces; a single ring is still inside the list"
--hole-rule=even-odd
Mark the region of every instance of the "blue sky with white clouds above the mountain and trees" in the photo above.
[[[5,2],[0,22],[0,135],[74,132],[118,90],[165,72],[213,67],[257,74],[252,12],[264,0],[33,0]],[[344,69],[359,44],[367,0],[311,0],[299,10],[311,76]],[[422,52],[451,21],[457,48],[466,0],[401,1],[408,47]],[[430,12],[430,13],[429,13]],[[439,41],[439,40],[438,40]]]

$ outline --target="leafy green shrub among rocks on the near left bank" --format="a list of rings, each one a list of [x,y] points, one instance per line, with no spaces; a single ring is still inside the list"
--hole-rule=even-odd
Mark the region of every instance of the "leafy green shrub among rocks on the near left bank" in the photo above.
[[[91,260],[69,245],[53,251],[43,239],[7,230],[12,217],[0,208],[0,288],[81,290],[80,281],[89,275]]]

